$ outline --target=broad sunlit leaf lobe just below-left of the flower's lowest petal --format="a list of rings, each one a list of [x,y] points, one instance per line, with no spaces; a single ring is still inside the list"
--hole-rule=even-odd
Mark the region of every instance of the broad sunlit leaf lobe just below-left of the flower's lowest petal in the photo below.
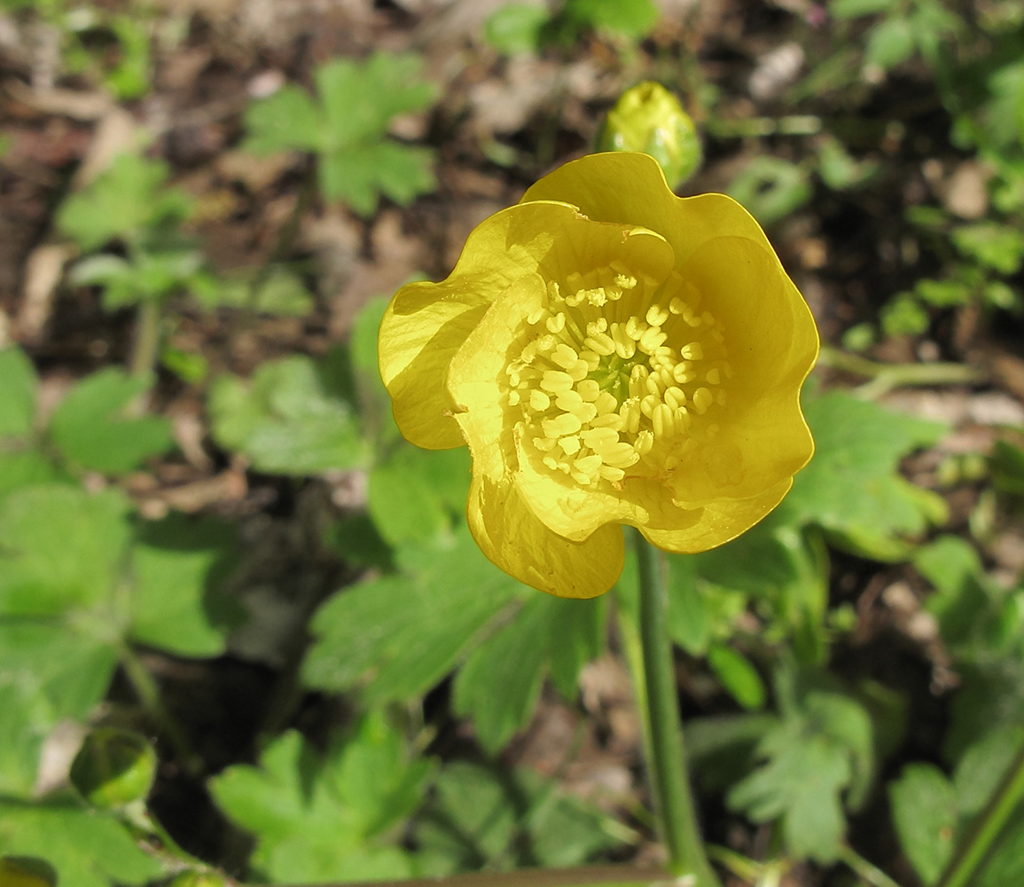
[[[410,700],[444,677],[484,626],[525,593],[465,527],[442,544],[400,551],[401,573],[350,586],[321,607],[303,663],[309,686],[361,685],[370,703]]]

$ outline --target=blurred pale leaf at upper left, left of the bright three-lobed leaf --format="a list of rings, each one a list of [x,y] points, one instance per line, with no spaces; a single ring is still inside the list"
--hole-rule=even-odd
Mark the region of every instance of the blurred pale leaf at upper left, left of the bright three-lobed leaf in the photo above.
[[[122,154],[110,169],[68,198],[57,211],[57,226],[83,250],[91,252],[115,240],[138,241],[148,228],[182,221],[191,200],[165,186],[167,164],[135,154]]]

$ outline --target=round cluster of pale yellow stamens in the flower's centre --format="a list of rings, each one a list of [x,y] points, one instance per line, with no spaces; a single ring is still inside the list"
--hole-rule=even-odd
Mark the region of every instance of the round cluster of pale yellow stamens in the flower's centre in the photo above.
[[[732,377],[721,325],[676,271],[664,282],[623,263],[547,285],[509,362],[519,439],[582,485],[664,477],[718,425]],[[696,418],[697,421],[694,421]]]

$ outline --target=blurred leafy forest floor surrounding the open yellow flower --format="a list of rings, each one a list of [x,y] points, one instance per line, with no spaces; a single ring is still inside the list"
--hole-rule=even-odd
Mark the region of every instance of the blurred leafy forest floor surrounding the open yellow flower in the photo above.
[[[633,565],[498,572],[376,370],[596,144],[742,201],[825,343],[793,492],[670,558],[705,832],[936,884],[1024,741],[1022,59],[1012,0],[0,0],[0,884],[658,859]]]

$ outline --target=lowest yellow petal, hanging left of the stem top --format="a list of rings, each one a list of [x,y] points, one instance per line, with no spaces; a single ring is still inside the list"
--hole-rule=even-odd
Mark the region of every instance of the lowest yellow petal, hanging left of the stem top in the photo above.
[[[559,597],[604,594],[623,572],[622,527],[602,526],[585,542],[570,542],[545,526],[510,484],[473,474],[466,509],[480,550],[534,588]]]

